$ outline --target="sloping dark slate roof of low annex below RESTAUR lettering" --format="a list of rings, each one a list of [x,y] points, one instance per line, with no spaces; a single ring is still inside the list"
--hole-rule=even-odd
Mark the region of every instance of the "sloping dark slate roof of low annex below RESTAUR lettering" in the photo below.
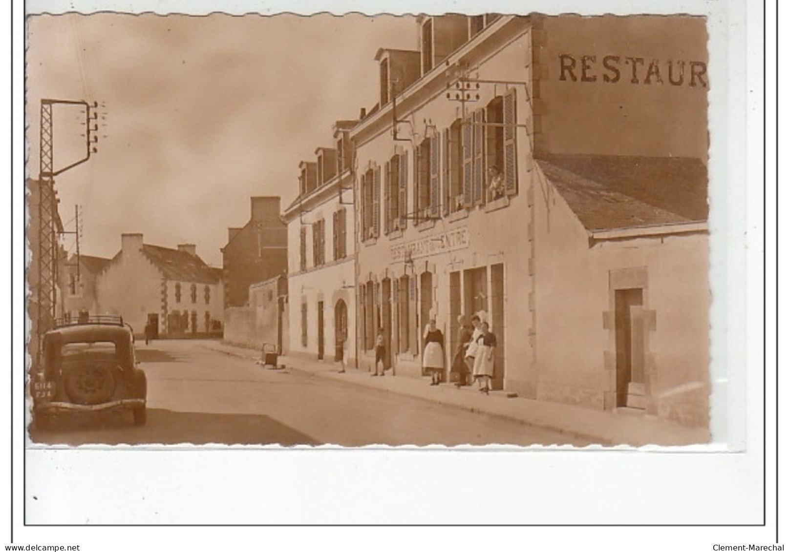
[[[700,159],[540,154],[537,164],[589,230],[707,220]]]

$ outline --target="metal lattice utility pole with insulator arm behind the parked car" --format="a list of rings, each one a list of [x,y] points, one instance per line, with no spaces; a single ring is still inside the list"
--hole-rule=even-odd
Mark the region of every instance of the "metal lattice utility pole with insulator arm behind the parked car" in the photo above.
[[[82,106],[85,114],[85,153],[81,159],[62,169],[54,169],[54,134],[53,134],[53,109],[58,105]],[[36,290],[36,361],[40,357],[40,339],[44,332],[49,330],[55,319],[58,289],[58,248],[59,234],[63,233],[62,223],[58,214],[58,197],[54,188],[54,177],[73,169],[77,165],[88,161],[96,153],[99,141],[99,114],[96,109],[98,103],[88,103],[84,100],[68,99],[42,99],[41,100],[41,129],[39,136],[39,201],[38,201],[38,250],[36,251],[36,269],[38,289]]]

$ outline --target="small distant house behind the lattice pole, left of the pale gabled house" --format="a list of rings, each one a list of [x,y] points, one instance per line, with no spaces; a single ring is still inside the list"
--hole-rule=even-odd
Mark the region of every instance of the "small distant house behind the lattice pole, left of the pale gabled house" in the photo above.
[[[99,314],[96,282],[110,261],[93,255],[71,255],[61,270],[63,316],[76,318],[80,312]]]

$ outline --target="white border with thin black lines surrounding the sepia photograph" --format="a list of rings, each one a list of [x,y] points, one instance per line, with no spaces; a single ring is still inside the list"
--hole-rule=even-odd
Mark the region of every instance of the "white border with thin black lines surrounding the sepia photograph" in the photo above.
[[[581,2],[531,2],[530,11],[544,13],[575,12]],[[352,2],[28,2],[28,13],[58,10],[92,11],[95,9],[157,13],[195,13],[223,11],[227,13],[332,13],[363,11],[365,13],[417,13],[427,11],[425,2],[367,2],[364,9]],[[548,6],[546,6],[548,4]],[[432,13],[443,11],[476,12],[477,2],[430,2]],[[588,6],[588,4],[586,5]],[[595,2],[594,13],[632,13],[632,2]],[[15,6],[18,9],[18,6]],[[520,2],[486,2],[485,11],[517,11]],[[713,408],[726,403],[725,421],[715,417],[713,431],[720,435],[724,431],[726,442],[739,453],[640,453],[640,452],[514,452],[514,453],[442,453],[424,451],[282,451],[255,453],[254,451],[100,451],[45,449],[28,450],[28,485],[33,481],[48,481],[47,488],[61,492],[64,511],[53,513],[53,519],[67,518],[68,523],[84,524],[102,519],[114,512],[117,519],[128,523],[241,523],[260,524],[391,524],[391,523],[454,523],[467,522],[462,516],[463,507],[484,509],[477,517],[478,523],[498,524],[618,524],[618,523],[677,523],[677,524],[760,524],[775,519],[769,498],[774,479],[767,474],[767,511],[762,489],[762,379],[763,359],[762,336],[762,257],[765,244],[761,240],[761,209],[765,204],[762,194],[762,147],[761,144],[761,6],[746,2],[641,2],[639,13],[704,13],[710,10],[711,28],[711,81],[721,82],[715,74],[725,75],[729,86],[721,91],[712,87],[711,100],[711,182],[716,173],[725,171],[729,183],[725,190],[727,208],[716,211],[715,201],[719,192],[712,189],[713,208],[710,219],[712,229],[713,272],[720,270],[722,286],[727,290],[725,304],[713,306],[713,317],[726,320],[725,338],[716,339],[724,343],[725,349],[716,349],[713,358],[726,359],[724,374],[714,371]],[[747,10],[747,11],[746,11]],[[18,14],[17,14],[18,15]],[[16,16],[15,16],[16,17]],[[18,19],[18,17],[16,17]],[[14,21],[15,41],[19,43],[21,26]],[[717,34],[713,29],[724,29]],[[755,36],[754,36],[755,35]],[[748,47],[748,50],[746,50]],[[725,63],[716,64],[716,53],[726,52]],[[18,56],[19,49],[16,48]],[[20,73],[14,68],[14,75]],[[717,73],[713,73],[717,72]],[[746,80],[747,88],[738,84]],[[20,134],[18,102],[19,85],[14,84],[14,140]],[[722,123],[720,130],[718,126]],[[746,129],[747,132],[743,132]],[[14,144],[15,181],[21,179],[19,144]],[[717,148],[725,155],[727,163],[717,164]],[[746,183],[747,185],[743,185]],[[16,193],[13,203],[14,259],[20,259],[21,220],[18,202],[21,194]],[[744,207],[741,208],[741,207]],[[725,243],[716,242],[716,229],[724,229]],[[720,248],[720,250],[717,250]],[[716,256],[719,255],[719,256]],[[19,267],[18,262],[14,263]],[[716,269],[720,267],[720,269]],[[769,273],[768,273],[769,274]],[[15,278],[15,306],[21,289],[18,270]],[[768,288],[769,289],[769,284]],[[742,293],[741,293],[742,292]],[[20,309],[15,308],[15,316]],[[17,369],[22,352],[20,343],[20,320],[14,319],[14,388],[20,389],[21,370]],[[717,330],[716,330],[717,331]],[[6,332],[3,332],[6,335]],[[768,354],[772,352],[768,347]],[[767,364],[767,436],[775,435],[775,389],[774,364]],[[771,385],[772,384],[772,385]],[[66,543],[65,535],[84,543],[99,543],[102,535],[111,529],[113,542],[126,550],[145,543],[151,550],[154,539],[174,539],[183,545],[191,544],[192,550],[209,550],[210,543],[228,543],[228,529],[214,531],[185,530],[180,528],[52,528],[24,527],[21,525],[21,467],[24,453],[24,435],[19,435],[21,405],[14,403],[15,420],[13,435],[15,454],[13,483],[13,505],[15,506],[15,543],[49,543],[52,539]],[[720,412],[720,410],[719,410]],[[745,416],[743,416],[743,412]],[[772,414],[772,417],[771,417]],[[719,425],[720,424],[720,425]],[[7,424],[6,424],[7,426]],[[772,433],[771,433],[772,430]],[[4,435],[5,436],[5,435]],[[771,460],[772,447],[768,446]],[[421,469],[424,461],[420,457],[431,454],[431,463],[439,464],[441,474]],[[110,461],[107,455],[112,455]],[[122,459],[121,459],[122,458]],[[773,460],[774,461],[774,460]],[[473,466],[492,468],[489,477],[475,476],[473,484],[452,483],[458,474]],[[39,472],[41,466],[47,469]],[[114,478],[122,470],[129,473],[128,479]],[[309,473],[310,477],[305,477]],[[323,474],[323,477],[316,477]],[[519,476],[516,476],[518,474]],[[646,477],[645,477],[646,475]],[[100,482],[92,487],[74,486],[66,482],[92,480]],[[58,481],[61,483],[58,487]],[[773,482],[771,485],[770,482]],[[638,482],[638,487],[633,487]],[[213,483],[213,484],[211,484]],[[35,483],[34,483],[35,484]],[[117,486],[117,487],[114,487]],[[76,487],[76,488],[75,488]],[[689,492],[691,489],[693,492]],[[144,494],[148,505],[140,505],[131,497],[135,492]],[[641,500],[636,511],[623,509],[621,499],[629,493],[649,496]],[[118,497],[126,496],[126,502]],[[155,508],[151,508],[155,504]],[[772,512],[772,517],[771,517]],[[404,513],[407,513],[405,515]],[[238,521],[235,521],[236,523]],[[729,543],[727,531],[720,528],[641,528],[628,531],[626,528],[611,528],[605,532],[619,543],[626,542],[626,535],[638,535],[638,543],[677,543],[684,539],[690,543],[698,541],[712,547],[712,535],[721,535],[720,543]],[[271,530],[273,533],[279,531]],[[402,534],[418,538],[424,530],[410,528]],[[744,529],[743,532],[746,532]],[[233,530],[234,542],[245,542],[243,529]],[[318,531],[316,535],[322,534]],[[477,532],[462,531],[466,543],[480,539],[481,546],[499,543],[507,535],[522,540],[524,535],[541,535],[559,545],[574,538],[589,539],[584,528],[487,528]],[[253,533],[252,533],[253,534]],[[304,531],[303,535],[312,535]],[[325,534],[325,533],[323,533]],[[750,528],[748,535],[758,535],[751,542],[772,542],[766,529]],[[772,532],[774,534],[774,531]],[[129,535],[129,540],[118,535]],[[144,540],[139,536],[147,535]],[[157,536],[159,535],[159,536]],[[365,537],[370,531],[342,533],[348,543]],[[350,536],[353,535],[353,536]],[[380,542],[380,536],[376,541]],[[477,536],[481,535],[481,536]],[[561,537],[557,536],[561,535]],[[616,535],[612,537],[611,535]],[[671,535],[668,536],[667,535]],[[684,535],[684,536],[678,536]],[[699,536],[705,535],[705,536]],[[316,537],[320,539],[320,536]],[[454,537],[449,537],[454,538]],[[531,539],[533,537],[529,537]],[[567,540],[565,540],[567,539]],[[516,540],[516,542],[517,542]],[[343,541],[345,542],[345,541]],[[507,540],[501,540],[506,543]],[[525,542],[525,541],[522,541]],[[131,546],[136,543],[136,546]],[[733,542],[731,542],[733,543]],[[323,540],[316,545],[325,546]],[[342,546],[342,545],[341,545]],[[376,545],[377,546],[377,545]],[[402,545],[401,545],[402,546]],[[381,546],[388,548],[387,543]],[[562,546],[564,548],[564,546]],[[92,550],[93,548],[86,548]],[[653,548],[645,548],[653,550]],[[95,550],[98,550],[96,548]]]

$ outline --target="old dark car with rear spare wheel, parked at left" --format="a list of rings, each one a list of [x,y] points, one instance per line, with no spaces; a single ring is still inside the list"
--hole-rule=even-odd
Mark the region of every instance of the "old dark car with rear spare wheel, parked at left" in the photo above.
[[[145,423],[147,380],[137,366],[132,329],[117,316],[58,320],[43,336],[32,373],[33,423],[47,427],[65,412],[130,411]]]

